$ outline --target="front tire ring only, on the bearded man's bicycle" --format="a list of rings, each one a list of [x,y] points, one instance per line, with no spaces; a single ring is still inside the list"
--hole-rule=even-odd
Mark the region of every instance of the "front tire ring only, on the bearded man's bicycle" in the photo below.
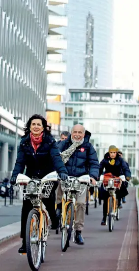
[[[68,229],[67,238],[66,238],[66,240],[64,240],[64,234],[65,234],[65,231],[66,231],[66,222],[68,220],[69,210],[71,210],[70,223],[69,223],[69,229]],[[62,229],[61,249],[62,249],[63,252],[66,252],[66,250],[67,250],[67,248],[69,247],[69,244],[70,244],[70,238],[71,238],[71,234],[72,234],[73,221],[74,221],[74,204],[73,203],[69,203],[68,207],[67,207],[67,212],[66,212],[65,225],[64,225],[64,227]]]

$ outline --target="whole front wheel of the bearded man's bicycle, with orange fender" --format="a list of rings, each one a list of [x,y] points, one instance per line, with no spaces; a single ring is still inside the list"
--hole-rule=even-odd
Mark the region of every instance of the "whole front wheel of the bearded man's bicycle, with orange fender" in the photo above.
[[[73,222],[74,222],[74,204],[69,203],[67,206],[65,225],[62,229],[61,249],[63,252],[65,252],[69,247]]]

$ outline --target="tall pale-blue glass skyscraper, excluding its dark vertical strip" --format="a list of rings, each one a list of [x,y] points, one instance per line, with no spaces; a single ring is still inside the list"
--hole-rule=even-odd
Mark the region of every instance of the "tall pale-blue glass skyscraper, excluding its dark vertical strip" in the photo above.
[[[86,23],[93,17],[93,82],[97,69],[98,88],[112,87],[113,0],[70,0],[66,5],[67,73],[69,88],[85,85]]]

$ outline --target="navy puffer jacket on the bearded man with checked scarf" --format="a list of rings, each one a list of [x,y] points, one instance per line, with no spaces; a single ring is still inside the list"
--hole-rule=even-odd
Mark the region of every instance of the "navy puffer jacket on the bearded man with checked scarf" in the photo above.
[[[80,177],[89,174],[94,179],[98,178],[99,162],[95,149],[89,142],[91,134],[85,131],[84,142],[76,148],[68,162],[65,164],[69,176]],[[72,145],[71,135],[58,144],[60,152],[67,150]]]

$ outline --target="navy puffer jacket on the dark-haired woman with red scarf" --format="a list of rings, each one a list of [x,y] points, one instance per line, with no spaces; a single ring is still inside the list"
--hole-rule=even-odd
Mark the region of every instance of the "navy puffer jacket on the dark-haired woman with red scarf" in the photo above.
[[[30,135],[22,137],[12,177],[17,177],[19,173],[23,173],[25,167],[27,167],[26,175],[30,178],[36,176],[41,179],[54,170],[57,173],[67,174],[56,146],[56,140],[51,134],[47,133],[44,133],[42,143],[36,153],[30,143]]]

